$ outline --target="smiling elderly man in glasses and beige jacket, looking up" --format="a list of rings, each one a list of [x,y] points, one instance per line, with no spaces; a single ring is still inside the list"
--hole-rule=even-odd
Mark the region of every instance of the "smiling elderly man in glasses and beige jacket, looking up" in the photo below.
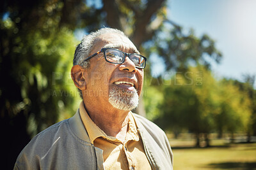
[[[84,36],[71,69],[83,98],[77,113],[35,136],[15,169],[173,169],[164,132],[131,112],[146,60],[122,31]]]

